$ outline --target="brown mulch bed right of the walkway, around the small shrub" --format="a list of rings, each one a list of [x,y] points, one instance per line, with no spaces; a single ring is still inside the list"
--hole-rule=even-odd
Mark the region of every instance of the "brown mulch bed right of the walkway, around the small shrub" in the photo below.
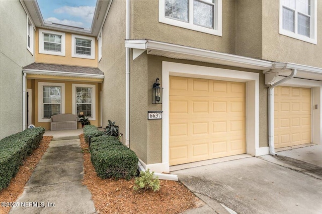
[[[84,134],[79,135],[81,147],[88,148]],[[156,192],[136,192],[134,179],[102,179],[96,175],[91,154],[84,152],[83,184],[92,193],[98,213],[180,213],[197,207],[199,199],[182,183],[160,180]]]

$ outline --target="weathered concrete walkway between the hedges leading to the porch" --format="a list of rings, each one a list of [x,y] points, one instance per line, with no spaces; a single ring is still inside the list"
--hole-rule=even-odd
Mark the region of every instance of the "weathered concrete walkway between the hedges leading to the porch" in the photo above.
[[[10,214],[96,212],[90,191],[82,185],[84,160],[79,139],[72,138],[76,139],[53,138],[18,198],[19,206],[12,207]]]

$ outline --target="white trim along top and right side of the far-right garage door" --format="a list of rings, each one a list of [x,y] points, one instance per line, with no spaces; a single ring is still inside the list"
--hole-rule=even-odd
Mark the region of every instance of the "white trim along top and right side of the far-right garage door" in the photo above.
[[[285,77],[278,77],[276,78],[276,81],[283,78]],[[322,142],[322,82],[293,78],[281,84],[281,86],[311,88],[311,140],[312,143],[320,144]],[[315,105],[317,105],[317,109],[314,108]]]

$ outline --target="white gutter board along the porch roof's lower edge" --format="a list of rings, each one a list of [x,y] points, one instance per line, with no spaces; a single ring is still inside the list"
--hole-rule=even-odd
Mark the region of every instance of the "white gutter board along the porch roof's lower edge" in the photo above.
[[[38,74],[38,75],[50,75],[50,76],[83,77],[83,78],[93,78],[93,79],[104,79],[104,75],[100,75],[100,74],[70,73],[70,72],[64,72],[64,71],[48,71],[48,70],[24,69],[23,73],[26,73],[26,74]]]

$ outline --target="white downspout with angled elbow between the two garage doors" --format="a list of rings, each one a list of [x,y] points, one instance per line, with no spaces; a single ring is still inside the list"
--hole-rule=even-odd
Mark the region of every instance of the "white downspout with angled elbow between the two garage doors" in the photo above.
[[[295,77],[297,70],[292,69],[292,73],[280,81],[268,87],[268,144],[271,155],[277,155],[274,146],[274,88],[289,79]]]

